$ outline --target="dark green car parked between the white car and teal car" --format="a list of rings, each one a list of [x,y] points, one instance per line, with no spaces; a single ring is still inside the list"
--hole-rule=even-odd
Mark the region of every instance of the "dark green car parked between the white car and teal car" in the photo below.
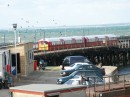
[[[92,63],[77,62],[77,63],[74,63],[71,66],[72,67],[68,70],[61,70],[60,75],[61,76],[68,76],[76,70],[95,70],[95,71],[101,73],[102,75],[105,75],[105,69],[104,68],[98,68],[95,65],[93,65]]]

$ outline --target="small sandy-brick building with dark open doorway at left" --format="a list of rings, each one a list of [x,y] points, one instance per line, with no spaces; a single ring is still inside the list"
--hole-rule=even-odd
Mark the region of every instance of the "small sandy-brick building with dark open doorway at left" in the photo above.
[[[14,73],[15,70],[14,74],[17,76],[28,76],[34,71],[33,42],[2,46],[0,51],[3,56],[1,65],[5,66],[8,72]]]

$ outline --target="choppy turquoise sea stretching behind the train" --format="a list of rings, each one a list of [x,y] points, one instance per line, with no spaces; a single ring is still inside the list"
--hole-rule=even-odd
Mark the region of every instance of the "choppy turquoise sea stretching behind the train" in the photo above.
[[[21,42],[37,42],[42,38],[59,38],[69,36],[87,36],[100,34],[115,34],[117,36],[130,35],[130,23],[79,25],[59,27],[37,27],[16,29],[16,40]],[[14,29],[0,30],[0,43],[15,41]]]

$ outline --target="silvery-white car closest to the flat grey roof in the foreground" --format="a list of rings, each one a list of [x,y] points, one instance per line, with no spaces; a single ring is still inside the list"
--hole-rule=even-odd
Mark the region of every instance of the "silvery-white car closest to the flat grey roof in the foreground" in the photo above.
[[[79,75],[76,75],[64,83],[64,85],[86,85],[87,87],[103,84],[105,84],[105,81],[98,76],[87,76],[86,78]]]

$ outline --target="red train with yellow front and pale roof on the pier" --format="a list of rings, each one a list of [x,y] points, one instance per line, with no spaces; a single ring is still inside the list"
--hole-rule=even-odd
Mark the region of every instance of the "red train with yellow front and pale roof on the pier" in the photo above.
[[[44,38],[38,40],[38,50],[55,51],[96,46],[118,46],[118,43],[118,37],[114,34]]]

